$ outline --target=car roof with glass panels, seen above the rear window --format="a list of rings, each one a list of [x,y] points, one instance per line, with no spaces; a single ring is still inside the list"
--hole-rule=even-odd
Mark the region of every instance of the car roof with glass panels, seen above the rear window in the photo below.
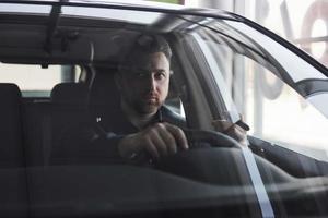
[[[169,33],[186,22],[183,16],[195,23],[209,16],[239,17],[148,1],[4,0],[0,2],[0,61],[115,63],[140,32]]]

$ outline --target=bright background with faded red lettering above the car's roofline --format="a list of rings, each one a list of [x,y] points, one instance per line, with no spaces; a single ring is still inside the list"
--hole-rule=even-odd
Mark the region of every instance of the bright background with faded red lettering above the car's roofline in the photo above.
[[[154,0],[153,0],[154,1]],[[328,65],[327,0],[157,0],[234,12],[250,19]]]

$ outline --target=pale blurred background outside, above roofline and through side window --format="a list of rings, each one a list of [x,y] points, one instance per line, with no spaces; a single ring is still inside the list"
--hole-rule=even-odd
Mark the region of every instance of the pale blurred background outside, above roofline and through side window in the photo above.
[[[234,12],[261,24],[328,66],[328,0],[163,0]],[[328,158],[328,119],[292,88],[254,63],[232,73],[231,93],[251,126],[249,134],[318,159]],[[256,73],[254,73],[256,72]],[[237,83],[237,84],[236,84]],[[235,87],[238,92],[234,90]],[[325,102],[324,102],[325,104]],[[326,102],[328,105],[328,102]]]

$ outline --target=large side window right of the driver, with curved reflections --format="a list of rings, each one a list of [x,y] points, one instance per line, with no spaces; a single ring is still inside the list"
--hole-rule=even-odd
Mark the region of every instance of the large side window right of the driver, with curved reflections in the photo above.
[[[225,31],[230,25],[233,27]],[[244,114],[251,135],[328,160],[327,90],[314,93],[308,100],[295,92],[302,81],[325,83],[327,77],[321,72],[238,22],[212,21],[198,27],[191,37],[207,58],[232,121],[236,122],[236,113]]]

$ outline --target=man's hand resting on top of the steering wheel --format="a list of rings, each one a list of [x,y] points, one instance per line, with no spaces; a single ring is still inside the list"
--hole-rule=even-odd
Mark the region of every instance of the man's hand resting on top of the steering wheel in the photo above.
[[[153,159],[160,159],[175,154],[178,147],[189,148],[183,130],[169,123],[155,123],[124,137],[118,144],[118,152],[121,157],[128,159],[143,152]]]

